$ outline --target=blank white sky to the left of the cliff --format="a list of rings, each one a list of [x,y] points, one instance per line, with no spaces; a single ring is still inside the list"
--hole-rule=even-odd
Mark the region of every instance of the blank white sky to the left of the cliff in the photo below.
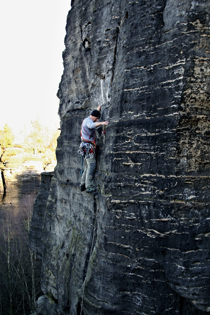
[[[0,129],[17,133],[38,114],[59,119],[56,93],[63,73],[71,0],[0,0]]]

